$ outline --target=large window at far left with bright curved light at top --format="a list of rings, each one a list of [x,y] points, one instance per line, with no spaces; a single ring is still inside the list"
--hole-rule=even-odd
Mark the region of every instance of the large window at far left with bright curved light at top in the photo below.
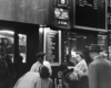
[[[6,62],[6,65],[8,66],[10,73],[13,72],[13,48],[14,48],[14,42],[13,42],[13,34],[12,31],[0,31],[0,58],[2,58]]]

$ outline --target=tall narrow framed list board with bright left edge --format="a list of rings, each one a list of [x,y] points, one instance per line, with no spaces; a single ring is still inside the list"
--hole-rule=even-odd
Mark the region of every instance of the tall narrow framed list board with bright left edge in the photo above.
[[[49,61],[52,66],[61,64],[61,35],[60,31],[53,31],[50,28],[44,28],[44,53],[46,61]]]

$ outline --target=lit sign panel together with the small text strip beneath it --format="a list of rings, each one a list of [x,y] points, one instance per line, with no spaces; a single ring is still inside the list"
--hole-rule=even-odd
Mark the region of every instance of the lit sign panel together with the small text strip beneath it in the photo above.
[[[53,25],[60,29],[70,29],[70,10],[64,8],[54,7]]]

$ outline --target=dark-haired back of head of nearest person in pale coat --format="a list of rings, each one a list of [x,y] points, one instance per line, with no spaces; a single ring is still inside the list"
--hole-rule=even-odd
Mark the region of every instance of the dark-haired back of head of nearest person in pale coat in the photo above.
[[[49,72],[49,68],[44,65],[42,65],[40,67],[40,77],[46,79],[46,78],[49,78],[50,77],[50,72]]]

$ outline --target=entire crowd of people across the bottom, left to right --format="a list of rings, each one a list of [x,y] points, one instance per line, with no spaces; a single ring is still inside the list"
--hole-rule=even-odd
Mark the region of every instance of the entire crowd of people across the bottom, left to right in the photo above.
[[[0,88],[53,88],[51,64],[44,61],[44,55],[42,52],[36,55],[37,62],[17,79],[14,86],[10,85],[13,81],[8,64],[0,58]],[[77,64],[67,55],[67,62],[60,65],[62,88],[111,88],[110,51],[108,57],[98,44],[91,44],[89,56],[92,62],[88,65],[82,52],[75,52]]]

